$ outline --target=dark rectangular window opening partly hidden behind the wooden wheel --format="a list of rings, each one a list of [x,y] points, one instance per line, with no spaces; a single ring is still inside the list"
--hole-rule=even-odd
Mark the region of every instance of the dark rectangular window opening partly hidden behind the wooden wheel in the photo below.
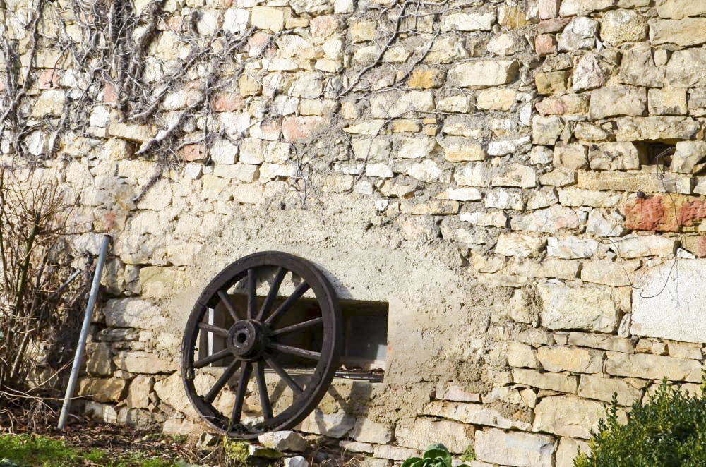
[[[230,295],[236,308],[246,309],[247,297],[236,293]],[[265,297],[258,296],[258,306]],[[273,305],[276,309],[284,297],[277,298]],[[385,359],[388,350],[388,303],[371,301],[340,301],[342,315],[343,342],[341,366],[337,376],[363,377],[370,380],[381,380],[385,370]],[[313,298],[300,298],[285,315],[277,322],[277,328],[289,327],[298,323],[320,317],[318,303]],[[234,321],[229,313],[222,310],[208,310],[208,324],[229,329]],[[323,343],[323,327],[313,326],[298,332],[277,337],[277,343],[305,349],[321,348]],[[201,333],[199,341],[199,358],[213,355],[226,348],[224,338],[212,333]],[[226,366],[232,362],[232,356],[222,358],[215,366]],[[314,368],[316,362],[293,355],[279,355],[277,362],[284,368],[292,370],[308,370]]]

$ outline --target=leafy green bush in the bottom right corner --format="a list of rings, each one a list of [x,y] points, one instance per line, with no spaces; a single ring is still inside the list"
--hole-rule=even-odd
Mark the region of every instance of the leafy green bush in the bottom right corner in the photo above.
[[[608,417],[592,432],[590,454],[574,467],[706,466],[706,385],[689,396],[664,380],[647,403],[633,404],[626,425],[618,421],[617,395]]]

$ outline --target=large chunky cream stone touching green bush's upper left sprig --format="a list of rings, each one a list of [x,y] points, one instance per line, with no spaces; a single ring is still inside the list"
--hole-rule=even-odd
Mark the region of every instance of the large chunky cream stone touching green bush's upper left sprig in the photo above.
[[[591,430],[597,429],[598,421],[605,416],[606,411],[599,402],[575,396],[545,397],[534,408],[532,430],[588,439]]]

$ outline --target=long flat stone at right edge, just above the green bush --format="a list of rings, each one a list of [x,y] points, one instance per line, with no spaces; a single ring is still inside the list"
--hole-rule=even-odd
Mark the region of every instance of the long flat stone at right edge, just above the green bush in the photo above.
[[[683,340],[683,339],[682,339]],[[702,365],[696,360],[672,358],[648,353],[606,352],[606,372],[647,380],[700,382]]]

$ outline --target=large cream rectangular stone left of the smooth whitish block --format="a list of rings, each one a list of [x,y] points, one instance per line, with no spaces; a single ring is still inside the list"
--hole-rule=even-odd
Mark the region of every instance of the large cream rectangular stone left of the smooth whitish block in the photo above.
[[[544,283],[537,291],[544,327],[613,332],[618,325],[618,309],[604,287]]]

